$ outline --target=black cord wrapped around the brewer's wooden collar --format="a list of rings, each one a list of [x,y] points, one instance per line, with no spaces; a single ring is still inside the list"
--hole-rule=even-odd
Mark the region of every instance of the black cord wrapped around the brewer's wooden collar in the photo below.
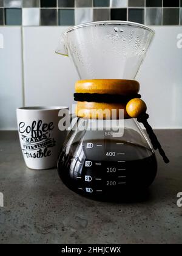
[[[120,94],[99,94],[99,93],[74,93],[75,101],[105,102],[105,103],[127,103],[130,99],[141,98],[140,94],[120,95]]]

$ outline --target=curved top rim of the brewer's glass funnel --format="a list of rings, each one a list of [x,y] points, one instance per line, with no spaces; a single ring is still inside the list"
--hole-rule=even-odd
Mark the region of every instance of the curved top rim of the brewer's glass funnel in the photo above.
[[[71,32],[72,30],[75,29],[80,29],[82,27],[89,27],[92,25],[98,25],[98,24],[118,24],[118,25],[129,25],[129,26],[133,26],[133,27],[140,27],[141,29],[146,29],[149,30],[153,35],[155,35],[155,30],[151,29],[150,27],[140,24],[140,23],[135,23],[135,22],[131,22],[131,21],[93,21],[93,22],[89,22],[89,23],[83,23],[83,24],[79,24],[73,27],[70,27],[69,29],[67,29],[66,31],[63,32],[63,35],[67,34],[68,32]]]

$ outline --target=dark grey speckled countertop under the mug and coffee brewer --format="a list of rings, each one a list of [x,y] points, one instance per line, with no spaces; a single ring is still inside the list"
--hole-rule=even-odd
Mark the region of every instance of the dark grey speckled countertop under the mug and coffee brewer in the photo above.
[[[59,180],[56,169],[26,168],[16,132],[0,132],[0,243],[182,243],[182,130],[158,130],[170,164],[140,202],[97,202]]]

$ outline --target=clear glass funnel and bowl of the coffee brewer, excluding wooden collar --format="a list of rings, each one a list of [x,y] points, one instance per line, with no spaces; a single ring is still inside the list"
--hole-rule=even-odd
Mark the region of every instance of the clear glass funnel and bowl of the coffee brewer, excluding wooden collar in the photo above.
[[[64,32],[56,52],[71,57],[82,80],[134,80],[154,34],[137,23],[87,23]],[[59,176],[70,190],[115,200],[151,185],[157,161],[136,119],[125,112],[114,120],[79,116],[75,127],[58,160]]]

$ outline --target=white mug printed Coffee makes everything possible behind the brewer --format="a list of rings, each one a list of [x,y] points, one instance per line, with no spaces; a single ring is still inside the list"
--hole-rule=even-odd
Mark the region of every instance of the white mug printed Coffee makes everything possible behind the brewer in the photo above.
[[[25,164],[30,169],[56,166],[67,130],[59,130],[59,110],[68,107],[17,108],[19,140]]]

